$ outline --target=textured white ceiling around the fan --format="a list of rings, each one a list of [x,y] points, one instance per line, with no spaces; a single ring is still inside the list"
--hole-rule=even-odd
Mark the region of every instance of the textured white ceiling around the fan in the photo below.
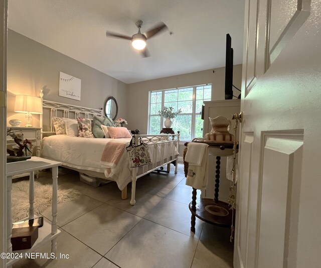
[[[244,0],[11,0],[9,28],[125,83],[225,66],[226,34],[242,63]],[[163,21],[142,58],[128,40]],[[174,32],[170,35],[169,32]]]

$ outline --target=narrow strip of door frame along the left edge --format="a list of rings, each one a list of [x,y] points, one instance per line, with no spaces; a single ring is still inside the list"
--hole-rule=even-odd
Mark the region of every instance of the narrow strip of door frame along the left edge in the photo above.
[[[7,252],[7,190],[6,190],[6,143],[7,143],[7,11],[8,1],[0,0],[0,253]],[[6,267],[6,259],[0,258],[0,268]]]

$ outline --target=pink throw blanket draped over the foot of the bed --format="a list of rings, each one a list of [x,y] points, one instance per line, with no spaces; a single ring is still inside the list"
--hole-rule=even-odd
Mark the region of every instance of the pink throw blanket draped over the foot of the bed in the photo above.
[[[104,148],[104,151],[102,152],[100,163],[103,166],[107,166],[109,168],[116,167],[120,157],[125,151],[127,143],[124,143],[123,141],[116,141],[116,140],[110,140]]]

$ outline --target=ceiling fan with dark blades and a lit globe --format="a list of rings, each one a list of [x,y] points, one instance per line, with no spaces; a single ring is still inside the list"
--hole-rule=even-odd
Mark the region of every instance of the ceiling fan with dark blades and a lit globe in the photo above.
[[[146,48],[146,40],[150,39],[151,37],[155,36],[156,34],[161,33],[164,30],[168,29],[168,27],[166,26],[165,23],[159,22],[153,28],[148,30],[146,33],[141,34],[140,28],[142,26],[142,21],[138,20],[136,22],[136,26],[138,28],[138,33],[134,34],[132,37],[122,35],[122,34],[112,33],[109,31],[106,32],[106,36],[130,40],[133,48],[135,48],[136,50],[139,50],[143,57],[149,57],[149,51]]]

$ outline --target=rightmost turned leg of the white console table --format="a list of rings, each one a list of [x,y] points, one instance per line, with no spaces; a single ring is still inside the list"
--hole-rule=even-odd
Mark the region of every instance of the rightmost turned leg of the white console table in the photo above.
[[[52,168],[52,222],[51,234],[57,233],[57,211],[58,211],[58,167]],[[51,240],[51,252],[56,252],[57,240]]]

